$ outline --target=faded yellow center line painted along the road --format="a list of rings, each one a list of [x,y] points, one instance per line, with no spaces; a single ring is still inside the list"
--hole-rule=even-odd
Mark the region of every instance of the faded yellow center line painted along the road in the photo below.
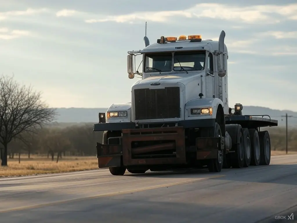
[[[96,198],[101,198],[101,197],[112,197],[112,196],[116,196],[116,195],[123,195],[123,194],[146,191],[146,190],[151,190],[151,189],[158,189],[158,188],[162,188],[162,187],[194,183],[194,182],[201,181],[201,180],[208,180],[211,178],[219,178],[219,177],[223,177],[223,176],[225,176],[225,175],[215,175],[215,176],[210,176],[207,178],[200,178],[200,179],[196,179],[196,180],[187,180],[187,181],[183,181],[183,182],[168,183],[168,184],[151,186],[151,187],[146,187],[146,188],[141,188],[141,189],[112,192],[112,193],[107,193],[107,194],[95,195],[95,196],[91,196],[91,197],[74,198],[74,199],[69,199],[69,200],[61,200],[61,201],[55,201],[55,202],[49,202],[49,203],[43,203],[43,204],[37,204],[37,205],[28,205],[28,206],[22,206],[22,207],[18,207],[18,208],[10,208],[10,209],[6,209],[6,210],[1,210],[0,213],[7,213],[7,212],[11,212],[11,211],[24,211],[24,210],[33,209],[33,208],[43,208],[43,207],[48,207],[48,206],[52,206],[52,205],[65,204],[65,203],[69,203],[69,202],[78,202],[78,201],[96,199]]]

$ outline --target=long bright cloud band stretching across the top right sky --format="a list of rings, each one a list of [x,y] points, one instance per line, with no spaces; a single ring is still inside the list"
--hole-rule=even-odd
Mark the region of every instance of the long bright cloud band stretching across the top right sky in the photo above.
[[[125,15],[99,15],[99,18],[85,19],[86,23],[117,22],[131,23],[135,21],[168,22],[172,17],[214,18],[244,23],[279,23],[282,19],[297,19],[297,4],[288,5],[255,5],[235,7],[227,4],[202,3],[186,10],[134,12]],[[170,18],[170,19],[169,19]]]

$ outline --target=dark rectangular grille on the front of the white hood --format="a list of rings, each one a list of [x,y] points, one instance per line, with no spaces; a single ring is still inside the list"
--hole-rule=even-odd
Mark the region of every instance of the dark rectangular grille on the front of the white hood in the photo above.
[[[180,117],[179,87],[135,89],[135,120]]]

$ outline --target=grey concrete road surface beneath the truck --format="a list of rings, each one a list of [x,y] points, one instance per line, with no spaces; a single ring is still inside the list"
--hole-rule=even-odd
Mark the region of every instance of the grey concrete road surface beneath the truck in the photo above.
[[[100,169],[0,179],[3,223],[288,222],[292,213],[297,222],[297,155],[212,174]]]

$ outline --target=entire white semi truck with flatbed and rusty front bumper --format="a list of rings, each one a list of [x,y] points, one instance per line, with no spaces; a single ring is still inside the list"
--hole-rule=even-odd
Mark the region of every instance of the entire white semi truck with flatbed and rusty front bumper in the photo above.
[[[277,126],[269,115],[242,115],[243,106],[228,101],[228,50],[200,35],[161,36],[157,43],[128,51],[131,103],[113,104],[99,113],[93,131],[99,168],[113,175],[181,168],[242,168],[269,165],[270,136],[260,127]],[[142,70],[135,56],[142,56]]]

